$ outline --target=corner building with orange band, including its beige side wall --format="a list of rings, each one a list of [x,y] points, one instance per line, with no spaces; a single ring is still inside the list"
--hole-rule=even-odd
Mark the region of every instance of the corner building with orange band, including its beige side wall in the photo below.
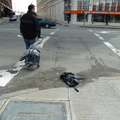
[[[38,15],[73,24],[120,23],[120,0],[38,0]]]

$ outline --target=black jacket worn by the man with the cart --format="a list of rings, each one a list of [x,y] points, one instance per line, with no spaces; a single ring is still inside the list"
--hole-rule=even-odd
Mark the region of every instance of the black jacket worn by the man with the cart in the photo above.
[[[41,28],[35,13],[28,11],[22,16],[20,19],[20,32],[25,39],[40,38]]]

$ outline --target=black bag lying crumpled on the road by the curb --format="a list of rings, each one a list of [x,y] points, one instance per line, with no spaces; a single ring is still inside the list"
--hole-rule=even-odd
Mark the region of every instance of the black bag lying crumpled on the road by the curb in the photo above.
[[[63,74],[61,74],[60,78],[70,87],[75,87],[84,80],[80,76],[69,72],[64,72]]]

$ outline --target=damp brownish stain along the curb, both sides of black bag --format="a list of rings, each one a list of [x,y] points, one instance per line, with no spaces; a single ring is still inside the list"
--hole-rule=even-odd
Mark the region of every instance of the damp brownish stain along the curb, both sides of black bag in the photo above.
[[[63,72],[68,71],[63,67],[57,67],[45,71],[38,70],[36,74],[29,77],[13,78],[13,80],[10,81],[6,87],[0,91],[0,93],[9,93],[30,88],[39,88],[40,90],[60,87],[69,88],[60,79],[60,75]],[[83,87],[84,85],[93,82],[93,79],[97,79],[99,77],[120,76],[120,70],[107,66],[96,65],[92,66],[91,69],[77,73],[77,75],[84,78],[84,81],[77,87]]]

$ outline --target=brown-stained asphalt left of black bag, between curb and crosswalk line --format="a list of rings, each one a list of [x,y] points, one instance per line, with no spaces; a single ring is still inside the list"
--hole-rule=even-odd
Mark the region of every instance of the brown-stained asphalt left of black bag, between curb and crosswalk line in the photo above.
[[[4,88],[1,88],[1,94],[30,88],[39,88],[40,90],[44,90],[49,88],[67,87],[60,79],[60,75],[64,71],[65,68],[63,67],[50,68],[47,70],[38,69],[32,73],[28,70],[31,74],[24,76],[26,72],[23,69]]]

